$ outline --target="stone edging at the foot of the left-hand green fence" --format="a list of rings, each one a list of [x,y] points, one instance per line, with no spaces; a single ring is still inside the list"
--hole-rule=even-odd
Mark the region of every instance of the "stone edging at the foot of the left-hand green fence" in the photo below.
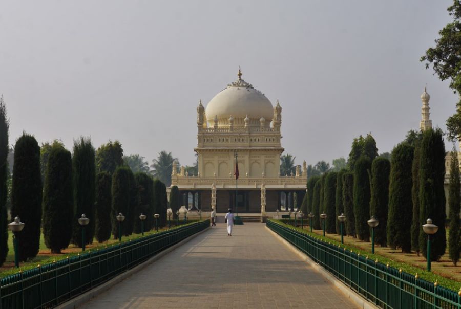
[[[135,273],[139,272],[140,270],[142,270],[144,267],[148,266],[149,264],[155,262],[156,260],[161,259],[164,255],[170,253],[171,251],[177,249],[178,247],[182,246],[186,242],[191,241],[192,239],[194,239],[198,235],[200,235],[200,234],[202,234],[202,233],[204,233],[206,231],[209,231],[209,230],[211,230],[211,228],[207,227],[206,229],[204,229],[204,230],[202,230],[202,231],[200,231],[198,233],[195,233],[194,235],[191,235],[191,236],[181,240],[176,245],[173,245],[173,246],[171,246],[169,248],[166,248],[165,250],[159,252],[158,254],[154,255],[153,257],[146,260],[145,262],[133,267],[132,269],[130,269],[130,270],[124,272],[124,273],[121,273],[120,275],[116,276],[115,278],[112,278],[111,280],[107,281],[106,283],[102,283],[101,285],[96,286],[96,288],[91,289],[88,292],[85,292],[85,293],[83,293],[83,294],[81,294],[81,295],[79,295],[77,297],[74,297],[74,298],[66,301],[65,303],[62,303],[62,304],[58,305],[56,308],[58,308],[58,309],[74,309],[74,308],[77,308],[78,306],[81,306],[82,304],[90,301],[92,298],[106,292],[107,290],[112,288],[114,285],[122,282],[125,279],[128,279],[130,276],[132,276]]]

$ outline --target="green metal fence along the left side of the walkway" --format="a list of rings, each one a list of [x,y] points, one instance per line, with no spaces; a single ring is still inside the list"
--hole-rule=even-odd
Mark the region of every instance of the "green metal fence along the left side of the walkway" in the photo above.
[[[202,221],[0,279],[0,309],[51,308],[209,227]]]

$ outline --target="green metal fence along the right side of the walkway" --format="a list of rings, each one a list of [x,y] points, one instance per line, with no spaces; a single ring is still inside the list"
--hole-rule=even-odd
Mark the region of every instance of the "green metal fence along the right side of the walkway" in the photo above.
[[[454,291],[434,286],[434,283],[399,272],[272,220],[266,224],[269,229],[349,285],[350,289],[381,308],[461,308],[461,296]]]

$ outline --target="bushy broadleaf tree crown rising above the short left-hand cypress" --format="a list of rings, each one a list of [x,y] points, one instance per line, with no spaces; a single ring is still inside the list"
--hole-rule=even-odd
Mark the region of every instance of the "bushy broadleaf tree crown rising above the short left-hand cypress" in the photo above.
[[[119,141],[109,141],[96,150],[97,172],[107,171],[112,175],[121,165],[123,165],[123,149]]]

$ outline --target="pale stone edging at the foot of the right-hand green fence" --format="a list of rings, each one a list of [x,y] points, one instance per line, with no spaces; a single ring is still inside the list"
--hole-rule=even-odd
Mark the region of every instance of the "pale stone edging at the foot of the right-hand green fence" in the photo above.
[[[309,256],[304,254],[303,252],[299,251],[297,248],[292,246],[288,241],[283,239],[279,234],[276,232],[272,231],[266,226],[267,231],[274,235],[278,240],[283,242],[285,246],[287,246],[291,251],[295,252],[302,260],[304,260],[306,263],[309,264],[310,267],[315,269],[317,272],[319,272],[322,276],[325,277],[328,281],[331,282],[338,290],[340,290],[344,295],[346,295],[353,303],[359,305],[361,308],[364,309],[379,309],[376,307],[373,303],[369,302],[359,294],[355,293],[347,285],[345,285],[343,282],[340,280],[337,280],[332,276],[328,271],[326,271],[323,267],[321,267],[319,264],[317,264],[315,261],[313,261]]]

